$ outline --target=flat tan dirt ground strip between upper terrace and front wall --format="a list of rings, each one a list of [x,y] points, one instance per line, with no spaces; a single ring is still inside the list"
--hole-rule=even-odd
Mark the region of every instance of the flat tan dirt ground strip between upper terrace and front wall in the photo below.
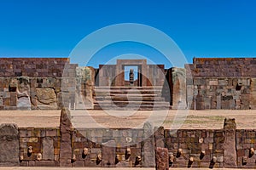
[[[1,123],[18,127],[59,127],[61,111],[0,111]],[[136,128],[144,122],[183,129],[223,128],[224,118],[236,118],[241,129],[256,129],[256,110],[205,111],[71,111],[74,127]]]

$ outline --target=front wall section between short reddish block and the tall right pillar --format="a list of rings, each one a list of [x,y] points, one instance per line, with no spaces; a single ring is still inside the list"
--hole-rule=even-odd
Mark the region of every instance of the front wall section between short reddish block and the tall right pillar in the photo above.
[[[223,130],[178,130],[165,131],[166,148],[173,155],[172,167],[188,167],[189,158],[194,162],[191,167],[209,167],[213,156],[217,158],[214,167],[224,167],[224,131]],[[178,150],[181,149],[181,153]],[[202,156],[201,152],[205,152]]]

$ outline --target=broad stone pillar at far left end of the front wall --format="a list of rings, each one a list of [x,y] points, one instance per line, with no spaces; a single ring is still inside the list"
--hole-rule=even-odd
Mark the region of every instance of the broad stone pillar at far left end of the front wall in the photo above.
[[[0,167],[20,166],[19,131],[15,124],[0,126]]]

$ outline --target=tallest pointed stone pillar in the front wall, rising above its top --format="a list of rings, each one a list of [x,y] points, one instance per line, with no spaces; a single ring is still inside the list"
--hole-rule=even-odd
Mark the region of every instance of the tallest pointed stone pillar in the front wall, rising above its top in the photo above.
[[[72,148],[71,148],[71,116],[67,109],[61,110],[61,150],[60,167],[72,167]]]

